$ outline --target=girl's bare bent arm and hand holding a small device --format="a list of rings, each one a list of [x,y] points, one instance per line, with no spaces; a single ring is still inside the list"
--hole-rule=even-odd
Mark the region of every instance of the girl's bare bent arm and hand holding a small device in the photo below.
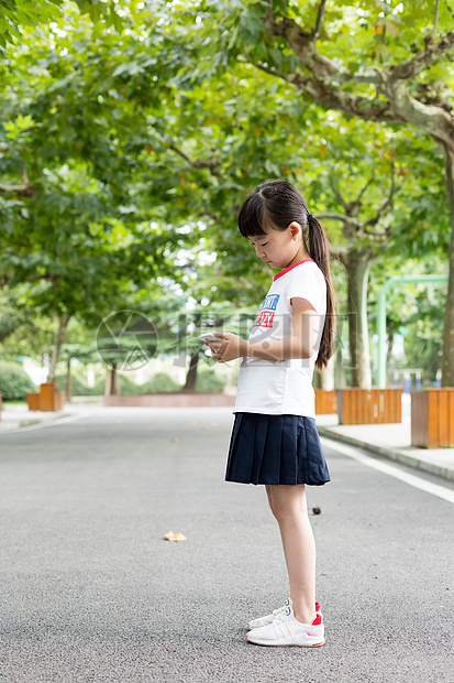
[[[264,342],[247,342],[230,333],[214,333],[220,342],[210,342],[210,348],[215,351],[215,359],[228,362],[234,358],[247,356],[266,360],[287,360],[289,358],[310,358],[317,348],[321,334],[322,318],[315,313],[312,304],[306,299],[291,300],[294,311],[294,335],[283,339],[265,339]]]

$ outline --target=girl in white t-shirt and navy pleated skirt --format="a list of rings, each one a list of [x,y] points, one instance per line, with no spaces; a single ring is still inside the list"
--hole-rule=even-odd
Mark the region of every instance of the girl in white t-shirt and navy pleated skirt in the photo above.
[[[219,362],[243,358],[225,479],[263,484],[281,535],[290,599],[250,622],[247,640],[262,646],[324,643],[315,603],[315,546],[304,485],[330,481],[314,421],[313,368],[333,349],[335,296],[329,241],[302,195],[286,181],[267,181],[245,200],[239,228],[256,256],[279,272],[250,338],[215,333]]]

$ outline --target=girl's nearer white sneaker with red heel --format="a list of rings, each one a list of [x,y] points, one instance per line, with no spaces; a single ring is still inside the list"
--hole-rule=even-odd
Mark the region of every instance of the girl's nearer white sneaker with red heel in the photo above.
[[[312,624],[300,624],[289,606],[287,612],[276,617],[273,624],[250,631],[246,638],[257,646],[317,648],[324,644],[324,626],[321,615],[317,615]]]

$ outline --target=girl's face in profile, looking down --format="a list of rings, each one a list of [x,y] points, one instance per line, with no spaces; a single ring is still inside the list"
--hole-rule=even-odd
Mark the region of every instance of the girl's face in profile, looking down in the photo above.
[[[298,223],[291,223],[285,230],[265,228],[265,235],[247,239],[255,247],[256,256],[270,268],[283,270],[309,258]]]

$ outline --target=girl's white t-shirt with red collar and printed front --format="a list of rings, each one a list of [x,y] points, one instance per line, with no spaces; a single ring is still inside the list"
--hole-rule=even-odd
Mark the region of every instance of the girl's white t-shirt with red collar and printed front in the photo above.
[[[315,310],[313,315],[318,317],[319,334],[312,356],[288,360],[243,358],[233,412],[315,416],[312,375],[326,314],[326,282],[312,259],[289,265],[273,278],[250,342],[291,337],[290,300],[296,296],[309,301]]]

